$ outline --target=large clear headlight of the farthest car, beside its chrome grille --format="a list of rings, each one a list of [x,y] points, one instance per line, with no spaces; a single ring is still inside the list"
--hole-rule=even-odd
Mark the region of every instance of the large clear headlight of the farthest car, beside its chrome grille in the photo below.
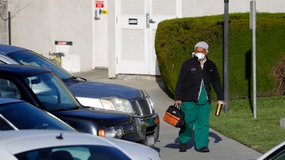
[[[116,110],[120,112],[134,113],[132,105],[128,100],[118,97],[104,97],[100,99],[105,110]]]

